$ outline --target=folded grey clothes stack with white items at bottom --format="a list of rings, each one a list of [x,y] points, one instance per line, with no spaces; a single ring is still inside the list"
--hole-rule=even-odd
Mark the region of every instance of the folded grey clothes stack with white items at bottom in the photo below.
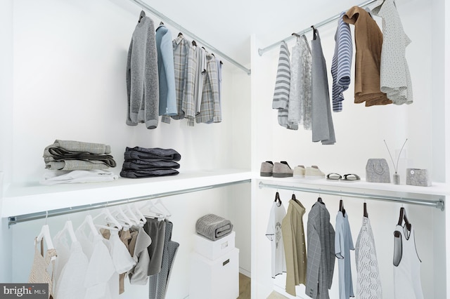
[[[76,182],[105,182],[118,176],[106,169],[115,167],[109,145],[72,140],[55,140],[44,149],[45,168],[43,185]]]

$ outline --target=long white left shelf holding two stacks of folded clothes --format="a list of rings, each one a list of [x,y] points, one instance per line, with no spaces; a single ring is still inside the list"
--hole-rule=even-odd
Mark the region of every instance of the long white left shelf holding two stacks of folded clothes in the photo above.
[[[16,184],[6,189],[1,217],[145,197],[151,194],[221,185],[251,178],[252,173],[249,171],[220,169],[186,171],[174,176],[155,178],[119,178],[113,182],[53,186],[39,185],[39,182]]]

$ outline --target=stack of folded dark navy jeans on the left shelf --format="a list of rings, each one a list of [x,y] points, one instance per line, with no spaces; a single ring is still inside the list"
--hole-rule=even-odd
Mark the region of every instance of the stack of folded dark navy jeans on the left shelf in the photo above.
[[[177,175],[181,154],[172,149],[127,147],[120,176],[124,178],[150,178]]]

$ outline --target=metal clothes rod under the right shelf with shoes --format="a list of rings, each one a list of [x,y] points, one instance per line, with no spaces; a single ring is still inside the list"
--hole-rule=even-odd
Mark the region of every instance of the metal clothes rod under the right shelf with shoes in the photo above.
[[[439,198],[439,200],[433,201],[433,200],[427,200],[427,199],[390,197],[387,195],[374,195],[374,194],[365,194],[365,193],[357,193],[357,192],[342,192],[342,191],[321,190],[321,189],[312,189],[312,188],[295,187],[295,186],[273,185],[273,184],[266,184],[264,182],[259,182],[259,188],[264,188],[264,187],[274,188],[274,189],[283,189],[283,190],[294,190],[294,191],[309,192],[309,193],[338,195],[338,196],[342,196],[342,197],[355,197],[355,198],[360,198],[360,199],[395,201],[395,202],[400,202],[402,204],[418,204],[420,206],[434,206],[435,208],[440,208],[441,211],[444,211],[444,200],[441,198]]]

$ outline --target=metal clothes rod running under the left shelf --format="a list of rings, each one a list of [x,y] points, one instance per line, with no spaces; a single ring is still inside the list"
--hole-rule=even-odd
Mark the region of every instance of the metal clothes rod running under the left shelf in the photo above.
[[[49,210],[49,211],[42,211],[42,212],[37,212],[37,213],[10,216],[10,217],[8,217],[8,227],[10,227],[11,225],[14,225],[16,223],[19,223],[19,222],[26,222],[26,221],[30,221],[30,220],[37,220],[37,219],[42,219],[42,218],[47,218],[47,217],[67,215],[67,214],[71,214],[71,213],[78,213],[78,212],[84,212],[84,211],[91,211],[91,210],[94,210],[97,208],[119,206],[121,204],[132,204],[134,202],[146,201],[148,199],[170,197],[172,195],[179,195],[179,194],[186,194],[186,193],[198,192],[198,191],[203,191],[203,190],[210,190],[210,189],[219,188],[219,187],[226,187],[229,185],[242,184],[244,182],[251,182],[251,180],[250,179],[237,180],[234,182],[224,182],[222,184],[217,184],[217,185],[209,185],[209,186],[203,186],[203,187],[188,188],[188,189],[184,189],[184,190],[162,192],[162,193],[157,193],[157,194],[149,194],[149,195],[146,195],[143,197],[131,197],[129,199],[118,199],[115,201],[103,201],[103,202],[99,202],[96,204],[84,204],[82,206],[70,206],[68,208],[57,208],[57,209]]]

